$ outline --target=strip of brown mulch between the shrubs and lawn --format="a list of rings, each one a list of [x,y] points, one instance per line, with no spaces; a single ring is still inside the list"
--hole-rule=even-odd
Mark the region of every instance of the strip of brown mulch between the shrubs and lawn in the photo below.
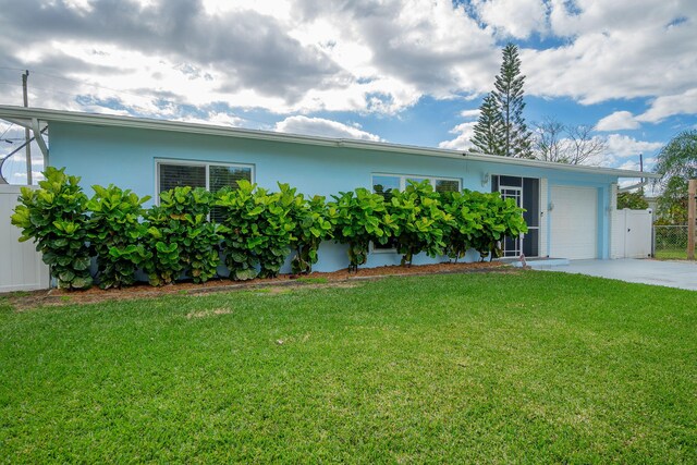
[[[278,292],[286,286],[346,286],[360,280],[380,279],[391,276],[424,276],[470,272],[512,272],[508,264],[503,262],[474,262],[474,264],[433,264],[414,265],[412,267],[384,266],[377,268],[360,268],[357,272],[348,272],[347,269],[333,272],[313,272],[309,276],[280,274],[272,279],[254,279],[249,281],[230,281],[228,279],[213,279],[203,284],[193,282],[179,282],[176,284],[152,287],[148,283],[137,283],[132,287],[110,289],[102,291],[94,286],[86,291],[66,291],[51,289],[48,291],[15,292],[3,295],[5,302],[17,310],[25,310],[38,306],[57,306],[71,304],[95,304],[109,301],[123,301],[133,298],[158,297],[162,295],[195,295],[209,292],[225,292],[236,290],[250,290],[265,287],[271,292]],[[353,283],[351,283],[353,282]]]

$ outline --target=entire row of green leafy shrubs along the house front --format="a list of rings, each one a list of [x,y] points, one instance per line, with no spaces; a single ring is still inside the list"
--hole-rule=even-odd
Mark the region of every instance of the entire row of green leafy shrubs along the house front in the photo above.
[[[348,246],[348,268],[357,270],[370,243],[393,244],[402,265],[419,253],[457,260],[468,249],[484,260],[501,255],[505,236],[527,231],[523,209],[498,193],[440,194],[428,182],[383,195],[359,187],[326,201],[288,184],[269,192],[240,181],[215,194],[175,187],[145,209],[149,197],[131,191],[93,186],[89,199],[65,169],[44,174],[40,188],[22,189],[12,223],[22,229],[20,241],[36,242],[65,289],[91,285],[93,258],[102,289],[133,284],[137,270],[151,285],[198,283],[217,277],[223,262],[232,280],[276,277],[292,252],[293,273],[309,273],[330,240]]]

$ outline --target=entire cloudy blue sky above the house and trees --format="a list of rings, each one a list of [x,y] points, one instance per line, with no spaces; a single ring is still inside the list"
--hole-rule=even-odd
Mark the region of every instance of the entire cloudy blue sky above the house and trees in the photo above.
[[[28,69],[35,107],[464,149],[512,41],[528,123],[595,125],[609,151],[594,163],[636,168],[644,154],[650,168],[697,127],[694,0],[0,0],[0,105],[22,105]],[[0,154],[23,134],[0,123]],[[21,182],[23,169],[15,156],[3,173]]]

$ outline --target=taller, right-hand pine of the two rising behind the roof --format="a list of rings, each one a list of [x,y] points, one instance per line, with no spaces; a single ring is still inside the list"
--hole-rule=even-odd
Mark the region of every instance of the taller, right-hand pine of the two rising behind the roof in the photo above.
[[[492,93],[499,105],[503,120],[503,155],[518,158],[533,158],[531,135],[525,124],[523,110],[523,85],[525,76],[521,74],[518,48],[509,44],[503,49],[503,63],[497,76]]]

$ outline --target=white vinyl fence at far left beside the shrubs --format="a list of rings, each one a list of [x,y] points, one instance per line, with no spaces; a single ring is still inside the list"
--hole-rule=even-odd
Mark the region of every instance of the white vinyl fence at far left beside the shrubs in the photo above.
[[[19,242],[20,229],[10,217],[20,186],[0,184],[0,292],[48,289],[48,267],[30,241]]]

